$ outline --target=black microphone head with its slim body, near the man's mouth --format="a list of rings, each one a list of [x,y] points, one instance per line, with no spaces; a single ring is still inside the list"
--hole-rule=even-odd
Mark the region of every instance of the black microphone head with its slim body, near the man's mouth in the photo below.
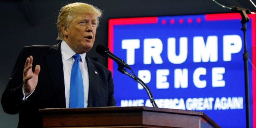
[[[126,64],[124,60],[121,60],[120,58],[112,54],[110,50],[102,44],[97,45],[96,52],[104,57],[109,57],[110,59],[114,60],[119,67],[121,66],[120,68],[126,67],[128,69],[131,69],[131,67],[128,64]]]

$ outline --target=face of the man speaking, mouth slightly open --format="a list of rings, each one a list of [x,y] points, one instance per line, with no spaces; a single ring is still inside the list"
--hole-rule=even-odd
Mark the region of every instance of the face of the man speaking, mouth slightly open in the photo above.
[[[64,32],[64,40],[76,53],[86,53],[95,41],[97,20],[89,13],[77,14]]]

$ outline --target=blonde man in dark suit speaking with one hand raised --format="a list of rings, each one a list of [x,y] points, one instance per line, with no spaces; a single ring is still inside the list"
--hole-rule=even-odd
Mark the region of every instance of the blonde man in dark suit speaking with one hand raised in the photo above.
[[[75,54],[81,56],[82,106],[116,106],[111,72],[86,55],[93,47],[101,15],[101,10],[90,4],[68,4],[62,7],[57,21],[62,42],[22,49],[1,99],[4,112],[19,113],[18,127],[42,127],[40,108],[71,108]]]

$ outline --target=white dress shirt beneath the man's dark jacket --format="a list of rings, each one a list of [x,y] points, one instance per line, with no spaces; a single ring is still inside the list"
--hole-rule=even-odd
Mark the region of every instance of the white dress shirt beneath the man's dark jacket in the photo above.
[[[64,72],[64,84],[65,84],[65,96],[66,96],[66,108],[69,108],[69,90],[70,90],[70,78],[71,78],[71,69],[72,65],[75,62],[73,55],[75,55],[75,51],[73,51],[68,44],[64,40],[61,43],[61,54],[62,54],[62,63],[63,63],[63,72]],[[84,107],[86,108],[88,105],[88,92],[89,92],[89,75],[88,75],[88,67],[86,63],[86,53],[79,54],[81,56],[81,60],[79,61],[79,68],[83,77],[84,84]]]

